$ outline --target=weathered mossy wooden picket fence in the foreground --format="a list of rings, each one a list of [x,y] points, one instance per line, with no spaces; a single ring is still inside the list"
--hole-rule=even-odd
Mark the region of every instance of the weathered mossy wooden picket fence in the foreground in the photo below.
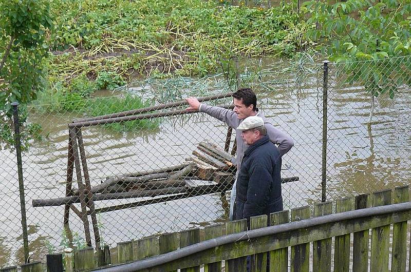
[[[249,231],[245,231],[247,221],[239,220],[118,243],[117,260],[124,264],[110,265],[106,246],[97,252],[92,248],[66,252],[65,258],[47,256],[47,265],[36,262],[21,268],[35,272],[47,266],[48,271],[59,272],[64,260],[68,272],[194,272],[202,265],[208,272],[221,271],[222,266],[231,272],[246,271],[246,258],[251,256],[251,271],[266,271],[267,262],[269,271],[411,271],[406,267],[408,191],[403,186],[340,199],[335,213],[333,203],[318,203],[312,218],[309,206],[292,209],[291,217],[287,210],[252,217]]]

